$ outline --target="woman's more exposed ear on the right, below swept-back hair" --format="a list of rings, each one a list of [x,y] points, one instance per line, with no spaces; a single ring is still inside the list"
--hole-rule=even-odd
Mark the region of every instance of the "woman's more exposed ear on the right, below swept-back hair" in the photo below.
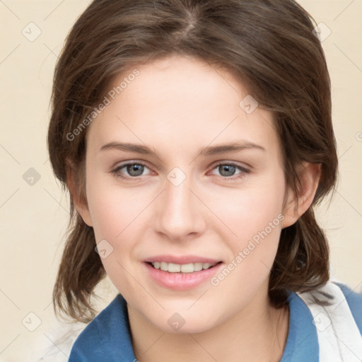
[[[281,223],[282,228],[296,223],[298,218],[300,218],[312,204],[320,180],[320,167],[320,163],[302,163],[300,170],[301,187],[298,195],[296,195],[293,190],[288,189],[288,199],[284,207],[284,220]],[[296,196],[298,201],[296,200]]]

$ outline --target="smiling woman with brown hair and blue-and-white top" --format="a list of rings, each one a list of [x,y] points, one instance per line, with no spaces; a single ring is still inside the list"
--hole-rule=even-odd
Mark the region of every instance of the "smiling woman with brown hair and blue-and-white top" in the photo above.
[[[69,361],[361,360],[362,297],[329,281],[313,213],[337,179],[314,28],[290,0],[78,18],[48,134],[72,211],[54,305],[93,320]]]

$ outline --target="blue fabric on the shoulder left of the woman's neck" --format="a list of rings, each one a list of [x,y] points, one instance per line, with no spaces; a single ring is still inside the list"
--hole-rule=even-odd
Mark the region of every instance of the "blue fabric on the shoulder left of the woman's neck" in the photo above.
[[[115,343],[117,342],[117,343]],[[118,294],[79,334],[69,362],[113,361],[112,356],[133,353],[129,336],[127,303]]]

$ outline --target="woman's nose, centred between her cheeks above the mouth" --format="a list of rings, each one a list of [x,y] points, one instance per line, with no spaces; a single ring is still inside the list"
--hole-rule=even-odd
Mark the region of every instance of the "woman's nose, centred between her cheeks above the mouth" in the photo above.
[[[166,180],[165,189],[158,197],[154,220],[156,232],[175,241],[197,238],[204,233],[206,208],[195,194],[188,178],[177,186]]]

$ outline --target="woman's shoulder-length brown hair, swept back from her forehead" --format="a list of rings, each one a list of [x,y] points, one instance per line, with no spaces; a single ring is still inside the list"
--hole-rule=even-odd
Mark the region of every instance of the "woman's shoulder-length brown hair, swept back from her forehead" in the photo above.
[[[136,64],[182,54],[227,69],[274,112],[287,185],[300,187],[298,165],[320,163],[313,205],[334,189],[337,151],[330,81],[315,21],[293,0],[94,0],[76,21],[57,62],[47,137],[54,174],[66,189],[67,163],[86,204],[86,132],[74,130]],[[83,122],[84,125],[84,122]],[[79,128],[78,128],[79,129]],[[69,134],[72,136],[70,137]],[[94,288],[105,276],[93,228],[71,199],[71,218],[54,286],[54,310],[88,322]],[[313,207],[281,232],[269,298],[286,305],[288,290],[312,291],[329,279],[329,248]]]

